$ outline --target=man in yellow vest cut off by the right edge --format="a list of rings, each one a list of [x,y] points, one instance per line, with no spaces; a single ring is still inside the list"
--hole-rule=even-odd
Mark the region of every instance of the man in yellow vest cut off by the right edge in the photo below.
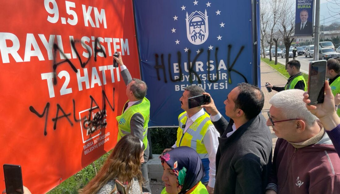
[[[336,59],[327,60],[326,78],[328,78],[329,86],[334,97],[339,97],[340,93],[340,63]],[[335,100],[335,106],[339,105],[339,101]],[[340,109],[337,109],[337,115],[340,116]]]

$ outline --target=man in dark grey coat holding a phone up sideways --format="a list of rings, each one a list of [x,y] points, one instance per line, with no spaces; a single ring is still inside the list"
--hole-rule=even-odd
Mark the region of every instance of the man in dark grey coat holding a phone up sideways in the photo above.
[[[258,87],[238,84],[224,101],[229,123],[218,112],[214,100],[202,105],[221,134],[216,153],[215,193],[265,193],[272,138],[266,119],[260,113],[264,101]]]

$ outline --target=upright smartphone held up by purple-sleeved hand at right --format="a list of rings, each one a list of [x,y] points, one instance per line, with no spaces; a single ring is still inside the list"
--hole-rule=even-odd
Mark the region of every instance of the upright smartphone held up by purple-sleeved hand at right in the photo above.
[[[309,63],[309,105],[323,103],[325,97],[326,65],[326,60],[312,61]]]

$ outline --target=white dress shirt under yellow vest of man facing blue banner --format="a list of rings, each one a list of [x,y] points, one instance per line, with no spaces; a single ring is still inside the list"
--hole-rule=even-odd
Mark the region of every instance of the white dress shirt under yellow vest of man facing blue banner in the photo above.
[[[198,117],[202,116],[204,114],[203,108],[197,112],[196,114],[189,117],[187,113],[186,116],[188,117],[187,122],[185,124],[185,128],[183,130],[183,134],[189,129],[189,127],[197,120]],[[182,126],[180,126],[182,127]],[[208,158],[209,158],[209,182],[208,186],[214,188],[215,187],[215,174],[216,174],[216,152],[218,148],[218,137],[220,136],[219,132],[216,130],[214,125],[208,127],[207,132],[203,136],[203,143],[205,145],[205,149],[208,152]],[[176,148],[176,143],[173,145],[173,148]]]

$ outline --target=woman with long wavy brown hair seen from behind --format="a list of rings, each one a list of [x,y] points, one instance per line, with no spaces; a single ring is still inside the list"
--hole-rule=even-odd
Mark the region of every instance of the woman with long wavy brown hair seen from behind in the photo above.
[[[107,157],[98,174],[79,193],[116,194],[117,179],[129,194],[141,194],[143,177],[140,165],[144,162],[143,154],[143,143],[137,137],[125,135]]]

